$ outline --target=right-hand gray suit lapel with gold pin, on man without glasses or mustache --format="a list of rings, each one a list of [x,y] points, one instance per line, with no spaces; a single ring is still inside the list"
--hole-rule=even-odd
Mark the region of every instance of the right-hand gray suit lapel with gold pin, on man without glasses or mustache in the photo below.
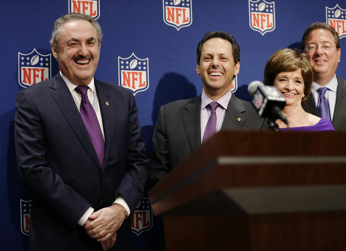
[[[240,130],[246,120],[246,115],[243,113],[245,111],[246,109],[242,102],[240,102],[240,100],[232,93],[227,106],[224,122],[222,122],[221,130]]]

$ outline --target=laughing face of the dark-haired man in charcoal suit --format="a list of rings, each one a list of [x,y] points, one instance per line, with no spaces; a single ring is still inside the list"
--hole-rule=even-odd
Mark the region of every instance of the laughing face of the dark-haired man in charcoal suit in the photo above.
[[[196,71],[201,75],[207,96],[209,93],[225,95],[232,87],[233,75],[239,73],[239,62],[234,64],[231,43],[219,37],[207,40]]]

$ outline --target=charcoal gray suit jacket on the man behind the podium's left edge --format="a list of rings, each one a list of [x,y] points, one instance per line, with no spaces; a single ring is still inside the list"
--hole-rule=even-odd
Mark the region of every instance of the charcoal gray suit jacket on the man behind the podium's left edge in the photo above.
[[[236,119],[241,118],[238,122]],[[258,129],[263,118],[250,102],[232,94],[221,130]],[[149,178],[156,184],[201,145],[201,95],[161,106],[153,134]]]

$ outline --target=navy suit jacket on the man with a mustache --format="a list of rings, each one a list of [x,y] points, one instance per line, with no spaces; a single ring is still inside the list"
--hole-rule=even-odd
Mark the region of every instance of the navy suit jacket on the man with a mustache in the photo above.
[[[92,206],[122,194],[131,212],[139,203],[148,159],[133,94],[94,80],[105,137],[101,170],[72,95],[60,74],[17,94],[15,143],[19,174],[33,196],[29,250],[102,250],[77,222]],[[106,106],[105,102],[109,105]],[[117,245],[131,240],[130,218]]]

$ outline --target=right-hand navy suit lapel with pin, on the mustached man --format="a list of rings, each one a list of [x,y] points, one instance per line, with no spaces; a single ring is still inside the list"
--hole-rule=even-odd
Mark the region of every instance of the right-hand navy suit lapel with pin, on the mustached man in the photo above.
[[[102,124],[103,124],[103,132],[104,132],[104,161],[103,163],[107,163],[110,157],[112,142],[114,138],[114,121],[116,116],[116,107],[121,107],[115,103],[115,99],[107,92],[108,86],[103,84],[101,81],[98,81],[94,78],[95,81],[95,89],[97,93],[97,97],[99,99],[101,116],[102,116]],[[108,105],[106,105],[106,102]]]

